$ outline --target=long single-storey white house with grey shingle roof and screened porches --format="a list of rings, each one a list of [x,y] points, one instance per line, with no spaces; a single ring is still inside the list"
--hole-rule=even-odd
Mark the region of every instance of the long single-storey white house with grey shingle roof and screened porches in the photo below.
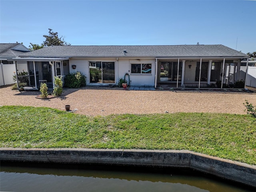
[[[43,81],[53,86],[54,76],[76,70],[87,85],[117,84],[125,77],[133,86],[203,88],[240,80],[243,59],[248,56],[223,45],[49,46],[10,61],[19,71],[24,67],[18,62],[27,63],[26,83],[32,88]]]

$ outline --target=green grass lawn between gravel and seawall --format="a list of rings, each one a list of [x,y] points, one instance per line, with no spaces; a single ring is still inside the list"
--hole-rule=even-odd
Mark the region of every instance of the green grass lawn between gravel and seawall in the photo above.
[[[256,164],[256,118],[210,113],[88,117],[2,106],[0,147],[184,149]]]

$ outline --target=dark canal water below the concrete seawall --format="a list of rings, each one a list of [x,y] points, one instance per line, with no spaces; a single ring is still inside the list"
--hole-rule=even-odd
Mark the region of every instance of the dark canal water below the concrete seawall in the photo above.
[[[254,191],[209,174],[172,168],[1,163],[0,171],[0,191],[12,192]]]

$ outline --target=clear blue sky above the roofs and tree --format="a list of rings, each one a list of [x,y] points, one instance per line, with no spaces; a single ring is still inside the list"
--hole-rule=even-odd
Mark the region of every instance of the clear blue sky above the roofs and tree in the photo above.
[[[0,0],[0,42],[71,45],[223,44],[256,51],[256,1]]]

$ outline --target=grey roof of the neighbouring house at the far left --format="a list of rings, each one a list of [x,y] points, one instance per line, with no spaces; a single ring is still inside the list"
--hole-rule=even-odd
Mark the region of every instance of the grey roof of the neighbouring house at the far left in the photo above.
[[[30,52],[21,43],[0,43],[0,58],[15,58],[23,52]]]

